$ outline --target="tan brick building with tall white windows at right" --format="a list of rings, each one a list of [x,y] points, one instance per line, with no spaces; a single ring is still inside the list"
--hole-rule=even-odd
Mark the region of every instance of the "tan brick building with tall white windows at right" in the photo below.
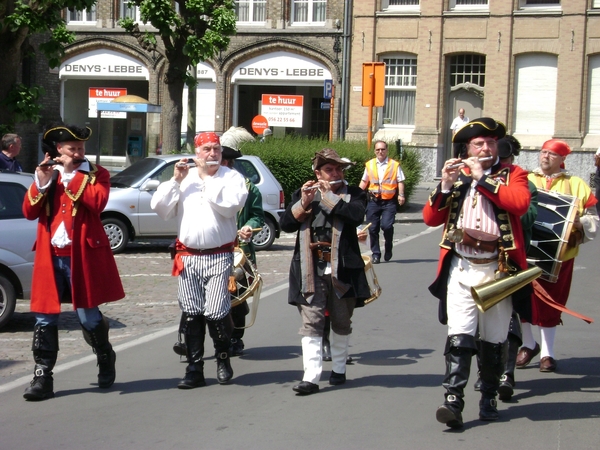
[[[600,1],[361,0],[352,12],[346,137],[363,138],[361,66],[386,63],[375,137],[417,145],[425,180],[439,175],[459,108],[504,122],[537,165],[550,138],[575,153],[567,168],[589,179],[600,147]]]

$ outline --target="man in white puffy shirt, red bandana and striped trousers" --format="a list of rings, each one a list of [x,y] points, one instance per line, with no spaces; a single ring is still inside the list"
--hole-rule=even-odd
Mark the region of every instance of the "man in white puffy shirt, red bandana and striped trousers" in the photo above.
[[[188,365],[179,389],[206,386],[204,340],[213,340],[217,381],[233,377],[229,347],[233,321],[228,290],[237,237],[236,216],[248,191],[244,177],[221,165],[222,148],[215,133],[194,139],[195,167],[182,158],[173,178],[158,186],[150,206],[164,220],[178,218],[173,272],[179,276],[178,300],[185,314],[183,335]]]

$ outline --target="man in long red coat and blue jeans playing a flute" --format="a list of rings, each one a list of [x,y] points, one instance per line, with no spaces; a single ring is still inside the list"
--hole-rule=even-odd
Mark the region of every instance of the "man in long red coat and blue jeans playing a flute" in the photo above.
[[[62,124],[49,127],[43,139],[45,158],[23,201],[25,217],[38,220],[31,289],[35,371],[23,394],[27,400],[54,396],[60,301],[67,290],[83,336],[97,355],[98,386],[108,388],[115,381],[116,355],[98,305],[125,293],[100,220],[110,175],[85,159],[91,131]]]

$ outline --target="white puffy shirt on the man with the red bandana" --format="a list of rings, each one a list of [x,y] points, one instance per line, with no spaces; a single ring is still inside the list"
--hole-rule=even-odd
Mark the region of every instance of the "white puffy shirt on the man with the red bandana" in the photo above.
[[[233,242],[237,236],[237,213],[248,197],[244,177],[219,166],[202,180],[190,170],[181,184],[165,181],[152,196],[151,208],[164,220],[177,216],[179,240],[186,247],[208,249]]]

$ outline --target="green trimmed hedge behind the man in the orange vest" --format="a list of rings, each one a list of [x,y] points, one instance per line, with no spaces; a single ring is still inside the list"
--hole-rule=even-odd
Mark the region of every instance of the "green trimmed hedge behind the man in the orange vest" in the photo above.
[[[372,148],[367,150],[366,141],[329,142],[326,139],[307,139],[290,135],[281,139],[268,138],[265,142],[247,142],[242,146],[241,151],[244,155],[255,155],[263,160],[281,183],[287,205],[296,189],[307,180],[315,178],[311,169],[311,160],[315,153],[324,148],[333,148],[341,157],[356,163],[346,171],[345,178],[350,185],[358,186],[365,163],[374,157]],[[421,179],[422,163],[419,154],[413,148],[404,147],[400,157],[394,143],[389,144],[389,149],[390,158],[401,161],[406,177],[404,193],[408,202]]]

